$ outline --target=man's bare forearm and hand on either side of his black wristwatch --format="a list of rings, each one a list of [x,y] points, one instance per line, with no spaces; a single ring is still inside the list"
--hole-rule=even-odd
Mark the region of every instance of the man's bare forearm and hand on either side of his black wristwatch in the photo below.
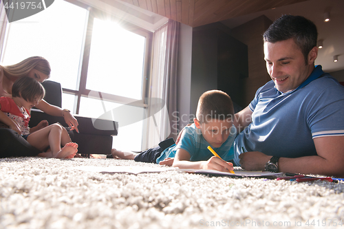
[[[279,172],[344,176],[344,136],[314,138],[318,155],[279,158]],[[241,166],[249,171],[263,170],[271,156],[261,152],[239,155]]]

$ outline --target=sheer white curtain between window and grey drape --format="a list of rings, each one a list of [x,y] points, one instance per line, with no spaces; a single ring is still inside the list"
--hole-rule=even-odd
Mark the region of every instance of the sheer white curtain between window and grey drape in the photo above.
[[[179,23],[169,20],[153,35],[153,60],[147,109],[147,132],[142,149],[156,146],[171,135],[177,105],[177,56]],[[175,128],[175,127],[173,127]],[[172,131],[175,133],[175,131]]]

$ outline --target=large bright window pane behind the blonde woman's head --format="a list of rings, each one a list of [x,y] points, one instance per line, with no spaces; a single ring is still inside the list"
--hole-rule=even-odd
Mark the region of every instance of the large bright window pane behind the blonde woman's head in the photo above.
[[[3,65],[43,56],[52,68],[50,80],[76,89],[86,15],[86,9],[59,0],[38,14],[9,23]]]

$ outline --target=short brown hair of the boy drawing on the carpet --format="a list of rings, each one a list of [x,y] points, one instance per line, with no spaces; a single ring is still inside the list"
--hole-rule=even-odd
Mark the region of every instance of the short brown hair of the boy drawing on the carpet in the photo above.
[[[212,119],[226,120],[234,116],[233,102],[224,91],[206,91],[198,100],[196,117],[201,123]]]

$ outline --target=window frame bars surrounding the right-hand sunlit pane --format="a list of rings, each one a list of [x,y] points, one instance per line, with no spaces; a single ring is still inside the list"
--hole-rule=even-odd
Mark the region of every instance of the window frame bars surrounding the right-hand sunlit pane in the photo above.
[[[129,23],[127,21],[123,21],[122,19],[119,19],[116,17],[114,13],[111,12],[104,12],[103,10],[99,10],[97,8],[94,8],[92,6],[88,6],[85,3],[80,3],[80,1],[76,0],[64,0],[69,3],[72,3],[76,6],[80,6],[82,8],[85,8],[88,12],[87,20],[85,21],[85,30],[84,30],[84,38],[83,38],[83,44],[80,54],[80,61],[79,61],[79,70],[78,70],[78,76],[77,76],[77,83],[76,83],[76,89],[66,89],[63,88],[63,93],[70,94],[75,96],[74,101],[74,112],[78,114],[80,110],[80,99],[81,97],[87,97],[87,98],[96,98],[100,100],[106,100],[109,102],[116,102],[120,104],[127,104],[131,103],[137,107],[143,107],[147,108],[147,101],[144,98],[147,98],[149,96],[149,81],[150,81],[150,74],[151,74],[151,53],[152,53],[152,43],[153,43],[153,32],[150,32],[148,30],[144,30],[143,28],[140,28],[137,25],[133,25],[132,23]],[[89,54],[91,51],[91,44],[92,44],[92,31],[93,31],[93,23],[94,18],[97,19],[105,19],[105,20],[111,20],[118,22],[122,28],[125,30],[128,30],[130,32],[136,33],[140,36],[144,36],[146,38],[145,41],[145,47],[144,47],[144,63],[143,63],[143,69],[142,69],[142,99],[136,100],[133,98],[127,98],[123,96],[117,96],[115,94],[107,94],[105,92],[101,91],[93,91],[86,88],[87,83],[87,71],[88,71],[88,65],[89,65]],[[145,80],[147,79],[147,80]],[[98,94],[98,96],[90,96],[91,94]],[[134,102],[134,103],[133,103]]]

